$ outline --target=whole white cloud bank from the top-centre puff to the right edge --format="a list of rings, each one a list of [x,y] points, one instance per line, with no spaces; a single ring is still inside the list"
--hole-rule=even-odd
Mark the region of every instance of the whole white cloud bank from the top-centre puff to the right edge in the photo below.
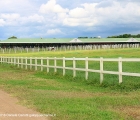
[[[64,26],[91,27],[110,23],[132,23],[136,20],[138,22],[136,17],[140,17],[138,4],[117,0],[83,3],[73,9],[63,8],[56,0],[49,0],[41,5],[39,12],[46,14],[48,21]]]

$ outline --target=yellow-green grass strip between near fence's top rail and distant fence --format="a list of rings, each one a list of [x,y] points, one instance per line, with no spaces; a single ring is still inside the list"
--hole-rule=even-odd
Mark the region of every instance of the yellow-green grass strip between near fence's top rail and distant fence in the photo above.
[[[22,57],[105,57],[105,58],[139,58],[140,48],[125,48],[125,49],[106,49],[106,50],[77,50],[77,51],[42,51],[30,53],[13,53],[3,54],[0,56],[22,56]]]

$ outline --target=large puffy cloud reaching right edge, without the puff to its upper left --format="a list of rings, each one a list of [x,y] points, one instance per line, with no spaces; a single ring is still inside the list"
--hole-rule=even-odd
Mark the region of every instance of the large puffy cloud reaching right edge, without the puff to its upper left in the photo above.
[[[63,23],[68,26],[97,26],[140,22],[138,18],[140,18],[138,4],[133,2],[122,4],[122,2],[108,0],[81,4],[81,7],[69,11]]]

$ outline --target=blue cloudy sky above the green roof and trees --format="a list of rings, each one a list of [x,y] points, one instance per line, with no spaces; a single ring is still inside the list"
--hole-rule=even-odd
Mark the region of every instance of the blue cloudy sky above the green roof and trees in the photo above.
[[[140,0],[0,0],[0,39],[140,33]]]

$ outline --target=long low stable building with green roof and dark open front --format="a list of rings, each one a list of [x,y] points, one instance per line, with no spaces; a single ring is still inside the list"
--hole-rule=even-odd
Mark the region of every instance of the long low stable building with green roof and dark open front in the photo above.
[[[140,38],[12,38],[0,41],[1,48],[61,47],[78,45],[139,44]]]

